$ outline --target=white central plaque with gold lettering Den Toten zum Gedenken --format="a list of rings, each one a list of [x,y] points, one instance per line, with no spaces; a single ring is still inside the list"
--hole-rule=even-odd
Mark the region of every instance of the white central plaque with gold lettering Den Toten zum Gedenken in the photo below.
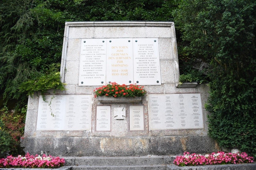
[[[107,47],[106,82],[133,83],[132,38],[110,38]]]

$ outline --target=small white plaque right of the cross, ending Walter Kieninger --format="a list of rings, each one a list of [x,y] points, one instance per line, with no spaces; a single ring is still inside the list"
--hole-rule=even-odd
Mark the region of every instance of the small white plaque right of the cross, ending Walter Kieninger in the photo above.
[[[143,106],[130,106],[130,130],[144,130]]]

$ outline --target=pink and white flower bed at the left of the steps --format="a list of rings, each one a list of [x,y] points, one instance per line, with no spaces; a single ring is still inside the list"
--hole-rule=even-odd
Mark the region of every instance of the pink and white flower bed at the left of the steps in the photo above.
[[[63,166],[64,158],[40,155],[30,155],[27,153],[24,157],[7,156],[6,159],[0,159],[0,168],[55,168]]]

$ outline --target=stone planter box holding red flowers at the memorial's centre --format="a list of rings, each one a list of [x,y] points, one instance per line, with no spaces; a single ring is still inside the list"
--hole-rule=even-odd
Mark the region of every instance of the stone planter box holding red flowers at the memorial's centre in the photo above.
[[[101,103],[139,103],[141,97],[112,97],[112,96],[99,96]]]

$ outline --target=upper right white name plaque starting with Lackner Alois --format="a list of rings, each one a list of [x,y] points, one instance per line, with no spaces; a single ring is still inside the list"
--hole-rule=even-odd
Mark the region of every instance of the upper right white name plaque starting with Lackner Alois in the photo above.
[[[133,72],[138,85],[161,85],[158,38],[133,38]]]

